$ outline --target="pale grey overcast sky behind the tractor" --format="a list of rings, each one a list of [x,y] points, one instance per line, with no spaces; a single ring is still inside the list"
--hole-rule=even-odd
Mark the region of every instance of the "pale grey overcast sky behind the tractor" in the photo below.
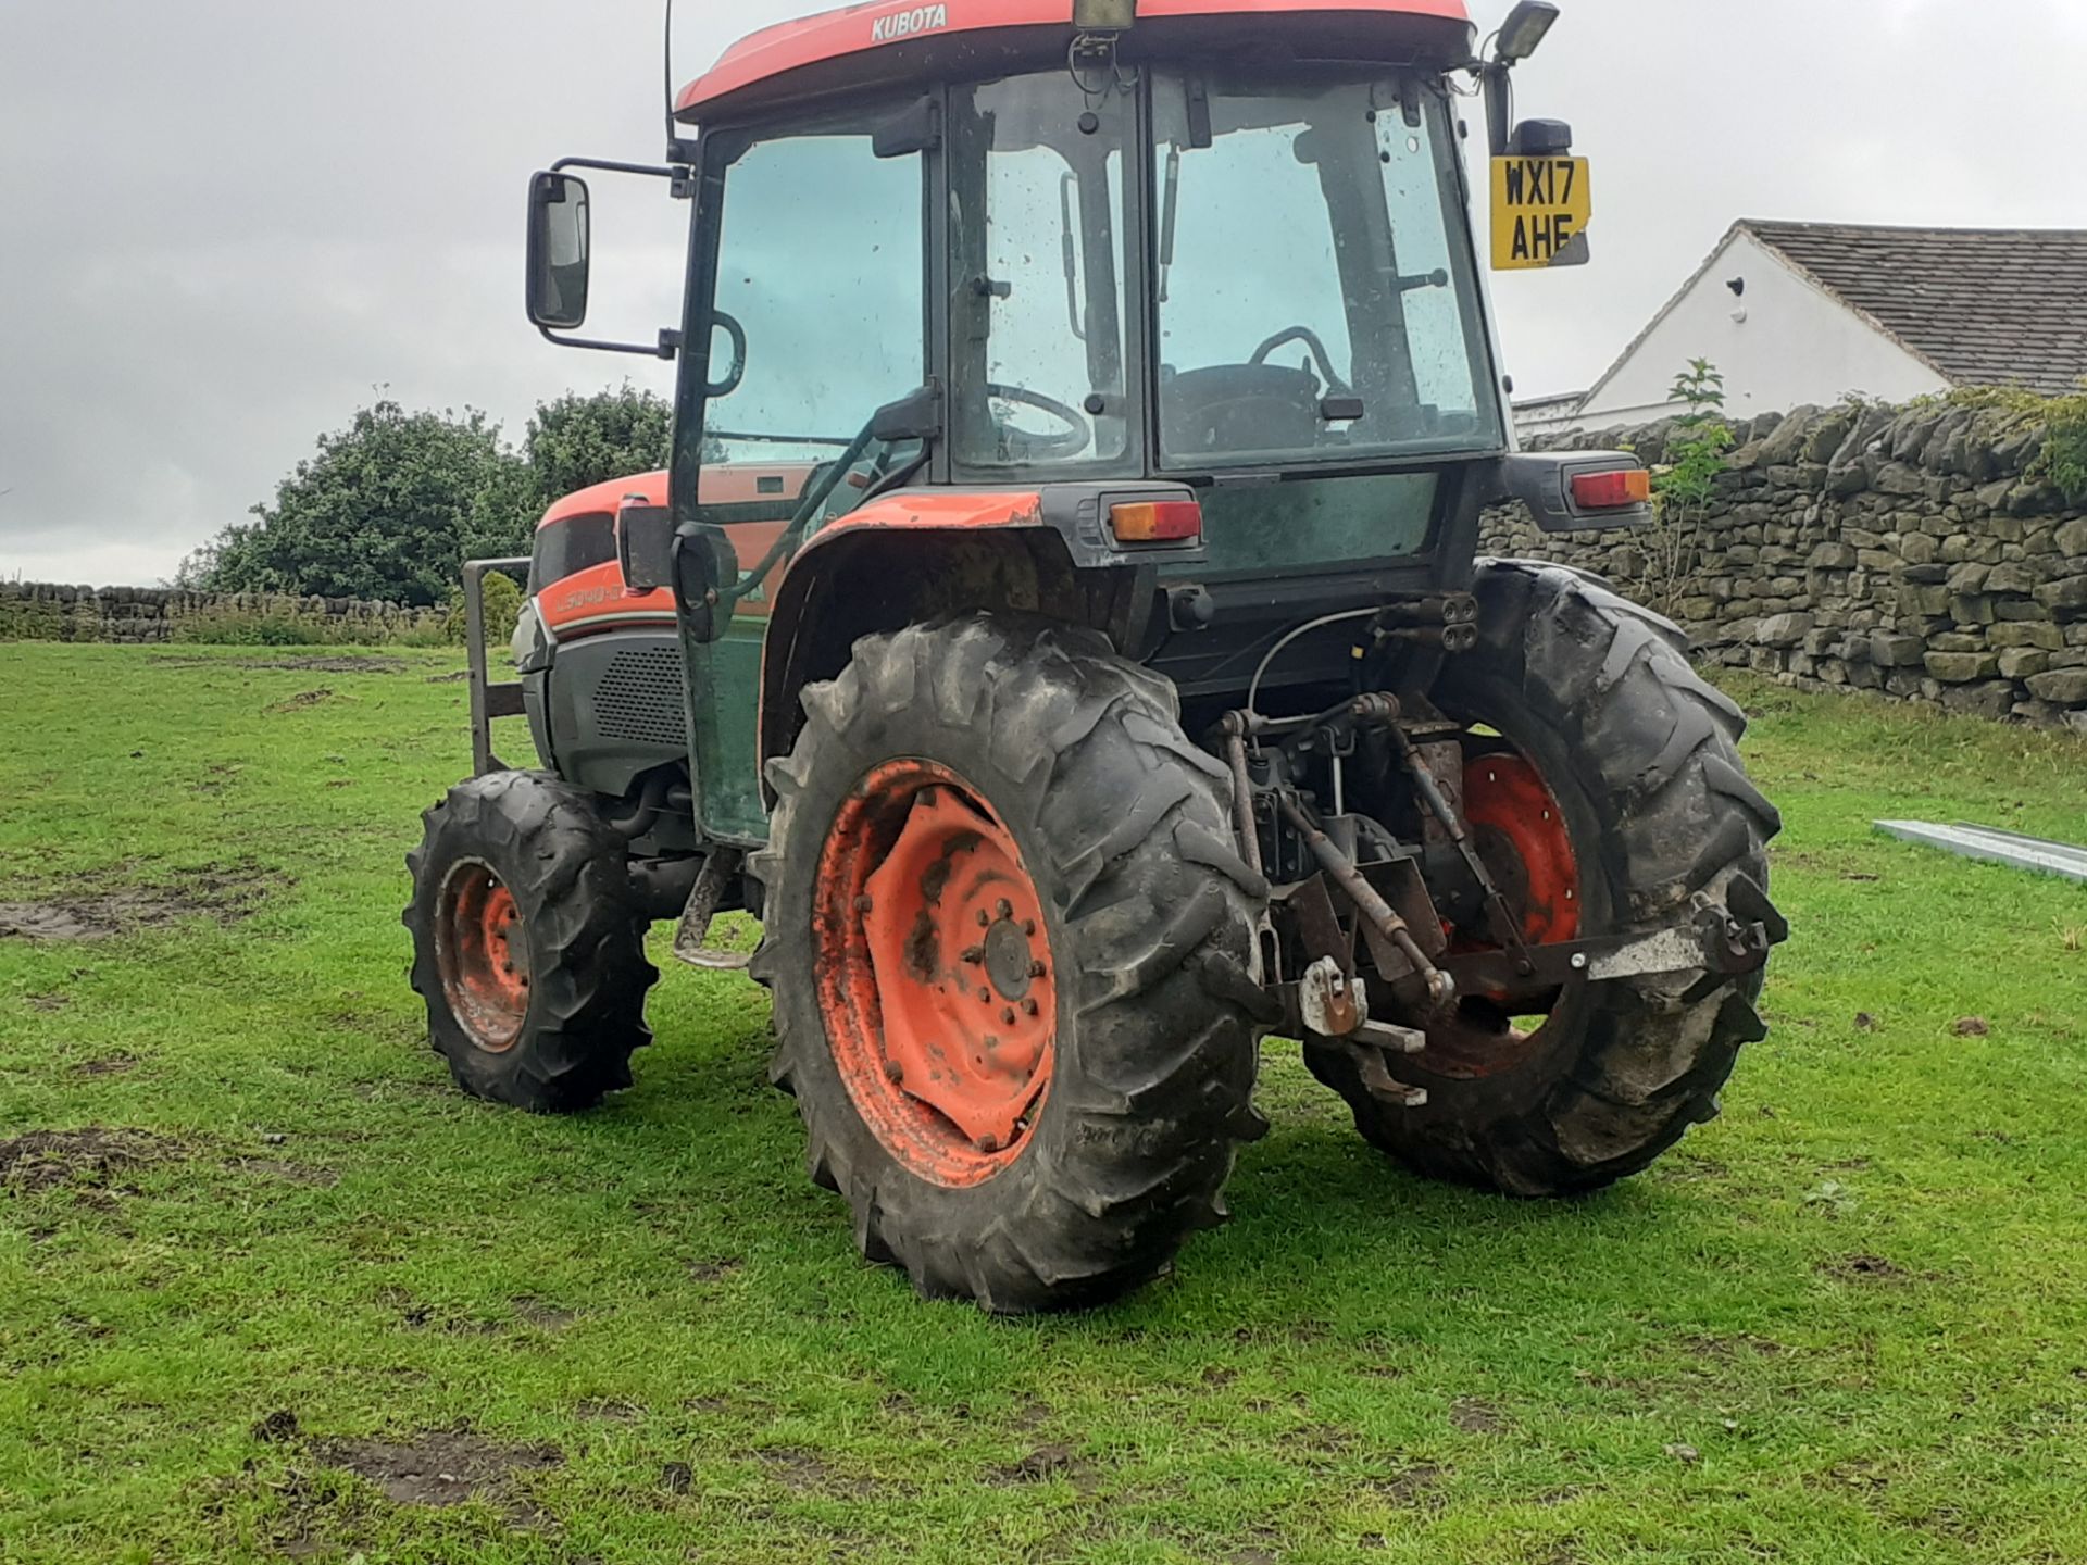
[[[1738,217],[2087,227],[2083,0],[1563,0],[1526,117],[1594,263],[1505,275],[1517,394],[1582,390]],[[818,0],[682,0],[674,75]],[[1473,0],[1490,29],[1505,0]],[[0,578],[152,584],[357,407],[670,367],[522,319],[561,154],[662,150],[655,0],[0,0]],[[687,209],[595,179],[591,330],[676,321]]]

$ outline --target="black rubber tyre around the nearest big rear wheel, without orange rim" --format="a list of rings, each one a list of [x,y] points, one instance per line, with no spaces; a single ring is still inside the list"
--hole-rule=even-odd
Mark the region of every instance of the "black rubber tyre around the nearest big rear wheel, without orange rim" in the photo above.
[[[1267,883],[1231,847],[1231,778],[1179,726],[1173,687],[1087,630],[956,616],[856,643],[803,693],[770,764],[753,977],[774,993],[770,1077],[791,1091],[816,1183],[856,1246],[929,1298],[993,1313],[1083,1308],[1171,1265],[1223,1221],[1252,1108],[1258,1033],[1242,993]],[[968,1189],[899,1164],[833,1064],[812,983],[812,876],[841,795],[877,762],[927,755],[979,787],[1023,845],[1052,916],[1056,1064],[1029,1150]]]

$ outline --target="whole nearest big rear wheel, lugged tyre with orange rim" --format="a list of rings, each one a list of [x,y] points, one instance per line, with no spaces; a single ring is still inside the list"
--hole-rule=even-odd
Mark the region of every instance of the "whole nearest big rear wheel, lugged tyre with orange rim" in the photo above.
[[[814,1181],[931,1298],[1021,1315],[1156,1277],[1265,1129],[1267,885],[1225,770],[1173,687],[1035,622],[866,636],[803,707],[753,977]]]

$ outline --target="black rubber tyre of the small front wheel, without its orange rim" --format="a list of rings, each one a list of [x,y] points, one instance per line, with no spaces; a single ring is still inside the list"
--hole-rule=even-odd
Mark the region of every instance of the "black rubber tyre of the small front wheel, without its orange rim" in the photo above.
[[[595,795],[543,772],[490,772],[453,787],[422,818],[407,853],[413,989],[428,1037],[474,1098],[568,1114],[630,1085],[630,1054],[651,1043],[645,918],[630,904],[624,841]],[[482,858],[507,883],[530,941],[530,1010],[515,1045],[480,1050],[451,1016],[434,952],[434,897],[459,858]]]

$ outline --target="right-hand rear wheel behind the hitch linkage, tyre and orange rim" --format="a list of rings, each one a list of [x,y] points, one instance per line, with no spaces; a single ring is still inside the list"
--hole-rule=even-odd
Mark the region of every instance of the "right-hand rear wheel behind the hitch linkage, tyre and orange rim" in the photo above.
[[[1690,670],[1682,634],[1578,572],[1482,561],[1482,641],[1436,703],[1473,741],[1467,814],[1534,943],[1651,933],[1701,908],[1768,906],[1774,805],[1747,780],[1747,720]],[[1764,1037],[1761,974],[1576,985],[1524,1031],[1469,997],[1396,1062],[1423,1108],[1369,1095],[1352,1056],[1304,1060],[1357,1129],[1415,1171],[1513,1196],[1567,1196],[1638,1173],[1716,1116],[1738,1048]]]

